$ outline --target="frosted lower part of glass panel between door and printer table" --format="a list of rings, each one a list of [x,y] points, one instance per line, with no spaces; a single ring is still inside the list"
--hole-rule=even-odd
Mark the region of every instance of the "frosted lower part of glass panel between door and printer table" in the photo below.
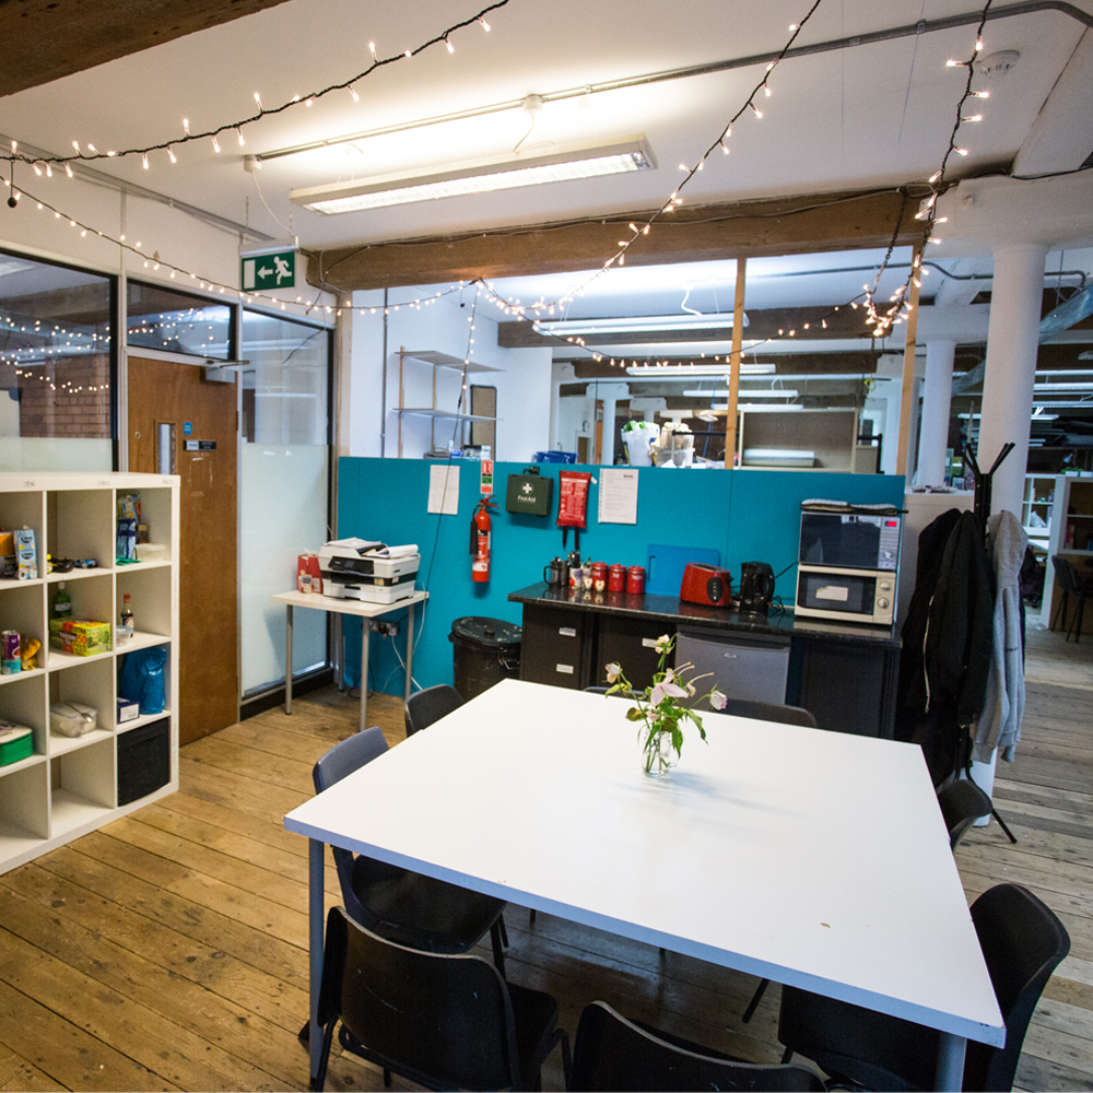
[[[284,606],[270,599],[295,587],[296,555],[327,534],[329,449],[244,444],[239,480],[239,606],[244,695],[284,680]],[[293,615],[293,674],[327,659],[325,611]]]

